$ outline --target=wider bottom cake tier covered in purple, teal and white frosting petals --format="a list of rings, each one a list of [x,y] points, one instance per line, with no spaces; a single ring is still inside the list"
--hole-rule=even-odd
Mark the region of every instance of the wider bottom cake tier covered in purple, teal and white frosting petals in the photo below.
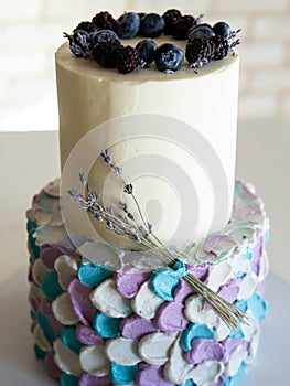
[[[61,385],[228,386],[255,358],[269,225],[253,186],[236,183],[228,226],[174,269],[127,262],[114,271],[84,258],[86,242],[73,244],[62,223],[57,181],[34,197],[28,233],[34,351]],[[184,269],[235,303],[248,324],[229,330],[184,281]]]

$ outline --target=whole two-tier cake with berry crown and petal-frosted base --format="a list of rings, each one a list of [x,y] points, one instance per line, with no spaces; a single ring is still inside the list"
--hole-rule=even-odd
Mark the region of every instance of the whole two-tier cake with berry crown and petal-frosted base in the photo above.
[[[61,385],[230,385],[256,356],[269,223],[235,182],[237,32],[100,12],[57,50],[63,175],[28,233],[34,350]]]

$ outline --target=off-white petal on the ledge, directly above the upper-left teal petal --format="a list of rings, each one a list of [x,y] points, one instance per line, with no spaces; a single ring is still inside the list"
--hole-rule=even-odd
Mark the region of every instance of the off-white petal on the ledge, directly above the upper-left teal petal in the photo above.
[[[84,243],[78,247],[79,254],[95,265],[112,266],[116,270],[121,268],[118,249],[100,243]]]

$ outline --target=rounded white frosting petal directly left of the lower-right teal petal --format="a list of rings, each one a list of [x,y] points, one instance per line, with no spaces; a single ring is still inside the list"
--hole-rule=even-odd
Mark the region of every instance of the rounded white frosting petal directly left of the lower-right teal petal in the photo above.
[[[139,355],[151,365],[162,366],[169,360],[170,349],[175,337],[176,334],[168,335],[165,332],[147,334],[138,344]]]

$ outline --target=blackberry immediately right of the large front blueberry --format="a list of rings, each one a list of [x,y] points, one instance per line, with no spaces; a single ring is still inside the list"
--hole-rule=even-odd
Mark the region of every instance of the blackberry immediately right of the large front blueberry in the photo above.
[[[206,37],[194,37],[185,49],[185,57],[193,67],[201,67],[208,63],[214,54],[214,42]]]

